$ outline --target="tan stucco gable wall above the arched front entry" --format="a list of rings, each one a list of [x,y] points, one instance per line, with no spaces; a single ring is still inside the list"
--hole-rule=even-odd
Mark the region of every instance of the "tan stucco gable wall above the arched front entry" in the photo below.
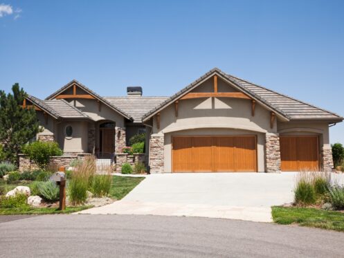
[[[105,104],[101,104],[99,111],[98,102],[96,100],[70,100],[70,103],[95,121],[109,120],[116,122],[116,127],[125,128],[125,118]]]

